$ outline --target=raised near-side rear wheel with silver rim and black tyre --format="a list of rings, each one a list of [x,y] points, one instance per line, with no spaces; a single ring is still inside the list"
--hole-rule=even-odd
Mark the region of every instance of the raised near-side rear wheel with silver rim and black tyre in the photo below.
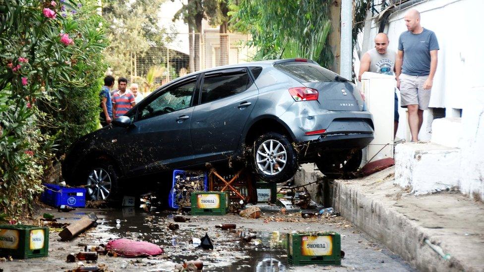
[[[269,132],[254,142],[253,168],[260,179],[279,183],[294,176],[298,169],[296,150],[284,135]]]

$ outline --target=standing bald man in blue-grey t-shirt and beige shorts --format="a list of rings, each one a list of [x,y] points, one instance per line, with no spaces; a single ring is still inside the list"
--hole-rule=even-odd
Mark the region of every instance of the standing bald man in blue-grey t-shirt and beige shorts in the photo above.
[[[408,110],[412,142],[417,142],[430,101],[439,46],[435,33],[421,26],[419,11],[409,10],[404,19],[407,31],[398,39],[395,73],[401,106]]]

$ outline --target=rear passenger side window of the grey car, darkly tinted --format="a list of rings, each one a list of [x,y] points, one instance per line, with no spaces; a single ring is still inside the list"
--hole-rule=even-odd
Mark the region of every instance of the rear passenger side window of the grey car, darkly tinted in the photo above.
[[[252,81],[247,72],[207,75],[203,80],[201,103],[207,103],[247,90]]]

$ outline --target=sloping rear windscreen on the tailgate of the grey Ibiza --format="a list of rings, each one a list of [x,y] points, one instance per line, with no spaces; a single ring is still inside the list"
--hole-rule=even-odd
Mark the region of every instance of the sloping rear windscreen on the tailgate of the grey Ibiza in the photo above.
[[[333,82],[337,76],[336,73],[309,62],[283,62],[275,64],[274,67],[299,82]]]

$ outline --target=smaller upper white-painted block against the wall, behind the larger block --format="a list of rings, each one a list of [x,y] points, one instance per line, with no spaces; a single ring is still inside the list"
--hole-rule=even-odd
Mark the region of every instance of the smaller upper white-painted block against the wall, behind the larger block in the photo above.
[[[462,141],[461,120],[458,117],[433,120],[431,142],[438,145],[460,148]]]

